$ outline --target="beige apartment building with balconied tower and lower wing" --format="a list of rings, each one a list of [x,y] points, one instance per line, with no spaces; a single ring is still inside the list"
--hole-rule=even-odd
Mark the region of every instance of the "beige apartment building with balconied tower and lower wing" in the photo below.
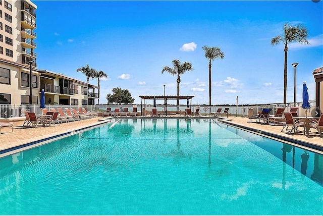
[[[37,6],[29,0],[0,0],[0,104],[93,105],[95,85],[37,69]]]

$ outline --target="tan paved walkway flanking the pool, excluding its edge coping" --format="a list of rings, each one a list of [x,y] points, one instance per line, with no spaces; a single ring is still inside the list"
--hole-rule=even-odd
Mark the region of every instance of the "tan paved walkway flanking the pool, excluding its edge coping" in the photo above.
[[[170,116],[169,118],[174,118],[178,116]],[[185,118],[185,117],[180,117]],[[192,118],[200,118],[200,117],[192,117]],[[0,150],[12,148],[15,146],[23,145],[26,143],[34,142],[37,140],[41,140],[47,137],[63,134],[66,132],[75,131],[78,129],[86,128],[89,126],[101,124],[101,117],[90,118],[75,122],[63,123],[60,126],[56,125],[53,127],[39,127],[36,128],[22,128],[24,121],[17,121],[14,123],[14,131],[11,133],[11,128],[5,127],[2,128],[2,134],[0,135]],[[286,132],[281,132],[283,126],[272,126],[263,123],[255,123],[254,121],[250,123],[250,119],[242,118],[242,117],[228,117],[230,124],[235,124],[237,126],[248,127],[251,129],[256,129],[259,131],[266,131],[273,134],[278,134],[280,136],[287,137],[291,140],[296,140],[299,142],[311,143],[320,147],[323,147],[323,137],[320,137],[319,134],[310,133],[309,135],[303,135],[303,133],[291,134]],[[226,121],[226,120],[225,120]],[[312,132],[314,130],[312,129]]]

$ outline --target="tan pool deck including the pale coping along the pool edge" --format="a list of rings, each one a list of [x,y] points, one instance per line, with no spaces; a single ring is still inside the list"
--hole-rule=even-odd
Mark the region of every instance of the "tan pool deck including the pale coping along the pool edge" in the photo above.
[[[128,117],[128,118],[147,118],[147,117]],[[156,117],[154,117],[156,118]],[[160,117],[165,118],[165,117]],[[169,116],[168,118],[188,118],[179,115]],[[190,119],[202,118],[207,119],[208,116],[205,117],[189,117]],[[69,136],[74,132],[80,132],[82,130],[87,130],[92,127],[98,127],[105,122],[110,121],[110,118],[89,118],[75,122],[63,123],[61,125],[56,125],[55,127],[51,125],[50,127],[40,127],[37,126],[35,128],[26,128],[22,127],[24,121],[15,121],[11,122],[14,124],[14,130],[11,132],[11,127],[2,128],[2,133],[0,134],[0,152],[4,150],[9,150],[15,147],[21,147],[30,143],[39,142],[38,145],[43,144],[48,141],[52,141],[55,139],[62,138],[62,134]],[[283,126],[282,125],[268,125],[263,123],[255,123],[250,122],[250,119],[243,117],[234,117],[229,116],[227,118],[220,119],[225,124],[234,125],[243,130],[251,130],[254,133],[261,133],[264,136],[274,137],[275,139],[285,139],[287,143],[291,142],[295,146],[300,146],[304,148],[309,148],[308,145],[317,146],[316,152],[323,153],[323,136],[319,136],[319,134],[314,133],[315,130],[312,130],[312,133],[309,135],[304,135],[302,132],[299,133],[288,133],[281,132]],[[40,142],[41,141],[41,142]],[[295,144],[296,143],[296,144]],[[34,145],[33,145],[34,146]],[[26,147],[28,148],[28,147]],[[30,148],[30,147],[29,147]],[[18,149],[19,151],[22,149]],[[7,153],[8,154],[8,153]],[[9,153],[10,154],[10,153]]]

